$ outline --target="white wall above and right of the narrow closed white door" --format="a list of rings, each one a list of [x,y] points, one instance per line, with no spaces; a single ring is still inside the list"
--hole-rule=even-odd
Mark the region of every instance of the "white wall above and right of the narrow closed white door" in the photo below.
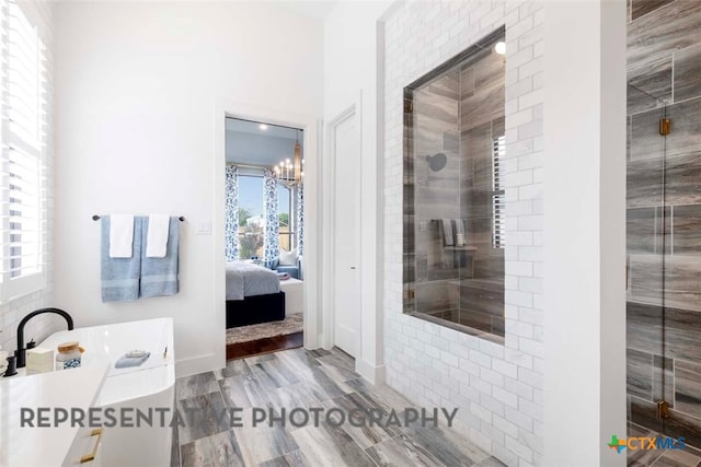
[[[377,22],[391,1],[340,2],[324,22],[324,120],[359,101],[361,124],[361,341],[356,370],[384,378],[380,277],[382,203],[377,140]],[[326,135],[325,135],[326,137]]]

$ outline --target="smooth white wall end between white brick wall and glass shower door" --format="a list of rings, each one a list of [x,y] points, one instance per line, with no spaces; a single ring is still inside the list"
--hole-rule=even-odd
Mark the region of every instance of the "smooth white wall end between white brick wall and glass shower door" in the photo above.
[[[625,25],[622,0],[545,5],[544,440],[553,466],[625,465],[606,445],[625,436]]]

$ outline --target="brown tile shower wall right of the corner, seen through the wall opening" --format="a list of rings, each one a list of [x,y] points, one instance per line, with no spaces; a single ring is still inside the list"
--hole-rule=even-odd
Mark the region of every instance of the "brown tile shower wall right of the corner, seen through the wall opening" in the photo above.
[[[504,57],[491,49],[460,74],[460,218],[475,249],[461,269],[457,322],[504,336],[504,249],[492,245],[493,142],[505,130]]]

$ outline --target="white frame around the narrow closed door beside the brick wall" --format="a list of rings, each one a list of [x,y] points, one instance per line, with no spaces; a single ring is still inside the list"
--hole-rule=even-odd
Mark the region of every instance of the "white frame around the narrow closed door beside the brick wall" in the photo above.
[[[329,283],[327,287],[324,287],[323,293],[323,308],[325,311],[324,317],[324,331],[323,331],[323,341],[322,345],[325,349],[330,349],[335,343],[335,310],[334,310],[334,301],[335,301],[335,287],[336,287],[336,278],[334,275],[335,271],[335,206],[336,206],[336,189],[335,189],[335,175],[336,175],[336,153],[335,153],[335,143],[336,143],[336,129],[341,124],[346,121],[349,118],[356,118],[356,128],[358,133],[358,184],[363,179],[363,112],[361,112],[361,102],[363,95],[358,93],[356,101],[348,105],[345,109],[337,113],[334,118],[332,118],[326,125],[325,136],[326,136],[326,157],[325,164],[323,167],[323,184],[322,188],[324,188],[324,202],[323,202],[323,219],[324,219],[324,232],[327,232],[327,235],[324,236],[322,241],[322,254],[323,254],[323,269],[329,272]],[[361,192],[360,199],[361,201]],[[358,206],[360,210],[360,226],[359,230],[363,232],[363,203]],[[358,289],[360,293],[363,293],[363,236],[358,238],[358,245],[360,250],[358,252]],[[355,360],[356,366],[357,362],[361,360],[361,336],[363,336],[363,300],[358,301],[358,315],[357,315],[357,332],[356,332],[356,342],[355,342]]]

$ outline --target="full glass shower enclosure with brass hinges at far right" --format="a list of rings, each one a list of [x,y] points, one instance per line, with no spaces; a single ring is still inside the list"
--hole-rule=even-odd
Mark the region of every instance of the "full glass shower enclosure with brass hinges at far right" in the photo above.
[[[701,447],[701,97],[633,114],[629,138],[630,435]]]

